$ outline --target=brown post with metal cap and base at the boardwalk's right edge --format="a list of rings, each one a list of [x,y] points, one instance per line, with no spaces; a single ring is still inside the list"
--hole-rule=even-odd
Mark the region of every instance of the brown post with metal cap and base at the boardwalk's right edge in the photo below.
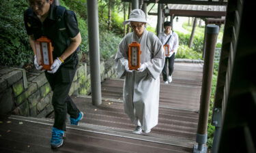
[[[198,145],[194,146],[194,152],[207,152],[207,126],[210,107],[210,95],[212,86],[212,73],[214,68],[214,50],[218,36],[218,26],[208,24],[205,37],[205,59],[203,64],[203,80],[200,98],[199,121],[197,126]]]

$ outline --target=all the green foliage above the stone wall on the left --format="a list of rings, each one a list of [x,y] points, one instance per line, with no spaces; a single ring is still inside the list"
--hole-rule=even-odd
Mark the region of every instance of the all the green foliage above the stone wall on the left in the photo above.
[[[81,53],[88,54],[87,34],[87,4],[85,0],[61,0],[61,5],[76,12],[79,29],[82,36]],[[33,52],[29,45],[29,37],[25,31],[23,12],[27,10],[27,0],[3,0],[0,1],[0,65],[23,67],[32,63]],[[103,10],[106,14],[106,10]],[[117,14],[113,13],[113,20],[117,20]],[[106,22],[99,18],[100,23],[100,54],[102,59],[107,59],[115,54],[121,37],[106,30]],[[122,29],[122,22],[114,22],[116,32]]]

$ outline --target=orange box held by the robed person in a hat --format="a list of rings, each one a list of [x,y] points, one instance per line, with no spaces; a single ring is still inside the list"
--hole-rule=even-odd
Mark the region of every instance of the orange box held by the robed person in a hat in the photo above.
[[[132,42],[128,46],[129,69],[138,69],[141,67],[141,44]]]

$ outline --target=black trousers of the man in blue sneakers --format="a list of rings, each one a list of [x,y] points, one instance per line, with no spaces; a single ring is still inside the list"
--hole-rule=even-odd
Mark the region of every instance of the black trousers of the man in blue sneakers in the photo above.
[[[66,131],[67,112],[71,118],[78,118],[80,111],[68,95],[72,82],[63,82],[61,80],[61,72],[63,73],[61,69],[62,68],[60,67],[58,71],[53,74],[45,72],[45,75],[53,90],[52,104],[55,112],[53,127]],[[72,71],[67,71],[65,73],[75,72],[76,69],[72,69]],[[74,76],[72,78],[74,78]]]

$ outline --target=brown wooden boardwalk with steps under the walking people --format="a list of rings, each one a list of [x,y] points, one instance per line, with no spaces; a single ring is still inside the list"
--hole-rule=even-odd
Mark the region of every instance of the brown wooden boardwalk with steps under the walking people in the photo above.
[[[122,103],[124,80],[102,82],[99,107],[91,105],[90,96],[73,96],[85,118],[79,126],[67,124],[66,139],[58,152],[193,152],[202,71],[201,64],[175,63],[173,82],[161,81],[158,125],[149,134],[131,133],[135,126],[124,114]],[[53,152],[49,144],[52,118],[4,119],[0,152]]]

